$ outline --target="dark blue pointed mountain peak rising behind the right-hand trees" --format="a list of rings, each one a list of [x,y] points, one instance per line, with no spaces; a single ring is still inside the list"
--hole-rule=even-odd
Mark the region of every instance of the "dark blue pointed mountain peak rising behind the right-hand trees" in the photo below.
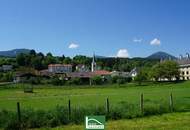
[[[170,55],[166,52],[156,52],[150,56],[147,57],[148,59],[177,59],[175,56]]]

